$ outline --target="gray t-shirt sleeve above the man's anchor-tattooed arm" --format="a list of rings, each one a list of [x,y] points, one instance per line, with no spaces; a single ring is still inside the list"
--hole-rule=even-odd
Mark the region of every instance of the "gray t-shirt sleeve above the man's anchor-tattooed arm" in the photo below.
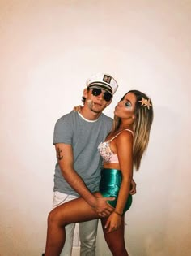
[[[72,144],[73,128],[67,116],[57,120],[53,132],[53,145],[57,143]]]

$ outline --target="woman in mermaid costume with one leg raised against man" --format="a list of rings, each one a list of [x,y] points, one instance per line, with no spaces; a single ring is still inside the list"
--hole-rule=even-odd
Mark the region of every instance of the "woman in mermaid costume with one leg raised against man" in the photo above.
[[[115,197],[108,201],[113,212],[107,218],[98,215],[79,197],[49,214],[45,256],[59,255],[65,243],[65,226],[91,219],[101,219],[105,241],[114,256],[128,256],[125,249],[125,211],[132,197],[129,194],[133,167],[139,169],[149,141],[153,109],[145,93],[131,90],[125,94],[114,111],[112,131],[100,143],[98,150],[104,158],[100,192],[96,197]]]

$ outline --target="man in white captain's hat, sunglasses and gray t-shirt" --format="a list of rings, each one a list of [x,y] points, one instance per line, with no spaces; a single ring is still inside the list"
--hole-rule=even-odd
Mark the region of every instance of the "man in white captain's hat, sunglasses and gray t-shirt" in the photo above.
[[[102,111],[112,102],[117,87],[117,81],[108,74],[91,76],[83,90],[81,113],[71,111],[57,120],[53,137],[57,152],[53,207],[80,196],[100,216],[112,212],[107,203],[111,197],[96,198],[92,193],[99,190],[100,184],[101,158],[97,146],[112,128],[112,119]],[[97,223],[97,219],[79,223],[82,256],[96,255]],[[73,235],[74,224],[67,225],[66,243],[61,255],[71,255]]]

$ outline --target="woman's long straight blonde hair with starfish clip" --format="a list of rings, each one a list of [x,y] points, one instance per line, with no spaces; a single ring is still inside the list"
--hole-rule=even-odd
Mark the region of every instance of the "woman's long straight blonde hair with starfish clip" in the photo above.
[[[138,171],[142,155],[144,154],[146,147],[149,142],[151,125],[153,121],[153,105],[150,99],[151,106],[142,106],[142,98],[146,101],[149,100],[148,96],[145,93],[142,93],[138,90],[130,90],[128,93],[134,93],[137,101],[135,103],[134,110],[134,124],[133,124],[133,132],[134,132],[134,146],[133,146],[133,160],[134,167]],[[127,93],[125,93],[126,95]],[[121,98],[121,101],[125,98]],[[116,132],[121,125],[121,118],[118,118],[114,115],[112,132]]]

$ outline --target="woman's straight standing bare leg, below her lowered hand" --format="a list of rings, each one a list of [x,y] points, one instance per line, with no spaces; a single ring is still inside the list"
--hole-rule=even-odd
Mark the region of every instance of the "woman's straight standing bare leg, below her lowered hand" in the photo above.
[[[121,227],[117,228],[114,232],[106,232],[104,226],[107,218],[101,219],[101,224],[104,232],[105,241],[108,244],[108,248],[111,250],[113,256],[129,256],[125,249],[125,221],[124,216],[122,219]]]

